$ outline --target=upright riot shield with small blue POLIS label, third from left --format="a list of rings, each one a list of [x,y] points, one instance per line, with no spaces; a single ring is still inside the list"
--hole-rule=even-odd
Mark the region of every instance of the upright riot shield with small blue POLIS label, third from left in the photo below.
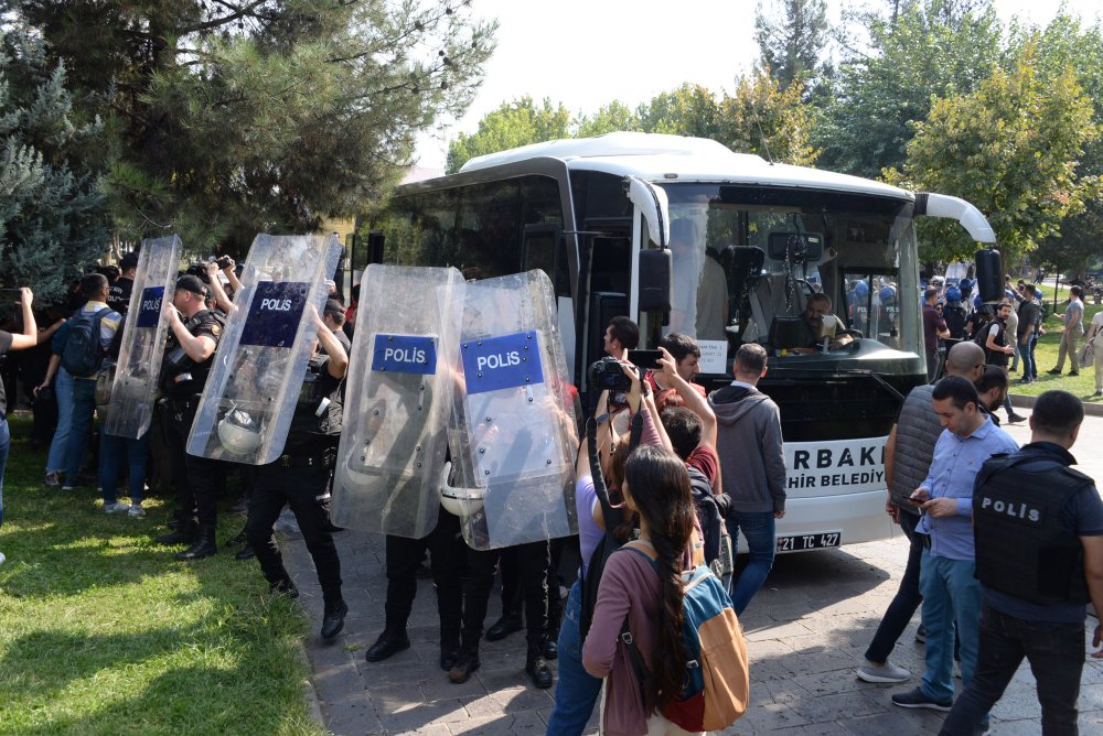
[[[440,511],[463,277],[368,266],[345,383],[331,513],[342,527],[420,539]]]

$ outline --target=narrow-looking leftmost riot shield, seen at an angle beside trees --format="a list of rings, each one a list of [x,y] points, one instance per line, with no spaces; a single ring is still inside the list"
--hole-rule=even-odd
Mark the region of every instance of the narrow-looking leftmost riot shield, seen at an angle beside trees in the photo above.
[[[153,421],[153,394],[169,331],[161,302],[172,301],[179,263],[179,237],[142,241],[111,383],[111,402],[104,421],[108,434],[137,440]]]

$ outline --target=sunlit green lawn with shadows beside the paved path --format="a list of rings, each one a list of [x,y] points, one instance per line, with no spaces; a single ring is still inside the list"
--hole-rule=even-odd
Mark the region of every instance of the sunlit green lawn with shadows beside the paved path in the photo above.
[[[319,734],[302,690],[304,616],[256,562],[176,562],[149,516],[92,488],[46,490],[12,421],[0,551],[0,734]],[[240,528],[225,518],[219,538]]]

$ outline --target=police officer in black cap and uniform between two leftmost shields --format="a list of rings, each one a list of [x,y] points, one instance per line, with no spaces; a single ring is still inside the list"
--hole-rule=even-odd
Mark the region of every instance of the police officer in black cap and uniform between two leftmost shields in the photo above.
[[[171,304],[162,305],[169,320],[169,336],[161,361],[160,402],[167,444],[176,483],[176,528],[157,541],[161,544],[190,544],[176,554],[178,560],[199,560],[218,551],[215,544],[218,497],[218,463],[184,452],[206,385],[215,348],[225,327],[224,317],[206,309],[206,286],[195,275],[176,279]],[[197,520],[197,523],[196,523]]]

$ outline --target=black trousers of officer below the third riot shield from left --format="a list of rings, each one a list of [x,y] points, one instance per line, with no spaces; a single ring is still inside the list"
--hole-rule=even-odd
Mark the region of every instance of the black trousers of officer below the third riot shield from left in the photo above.
[[[437,588],[437,613],[440,616],[440,643],[450,648],[459,646],[467,549],[460,534],[460,520],[443,508],[437,517],[437,526],[421,539],[387,535],[388,631],[406,630],[417,595],[415,574],[425,551],[429,550],[432,583]]]

